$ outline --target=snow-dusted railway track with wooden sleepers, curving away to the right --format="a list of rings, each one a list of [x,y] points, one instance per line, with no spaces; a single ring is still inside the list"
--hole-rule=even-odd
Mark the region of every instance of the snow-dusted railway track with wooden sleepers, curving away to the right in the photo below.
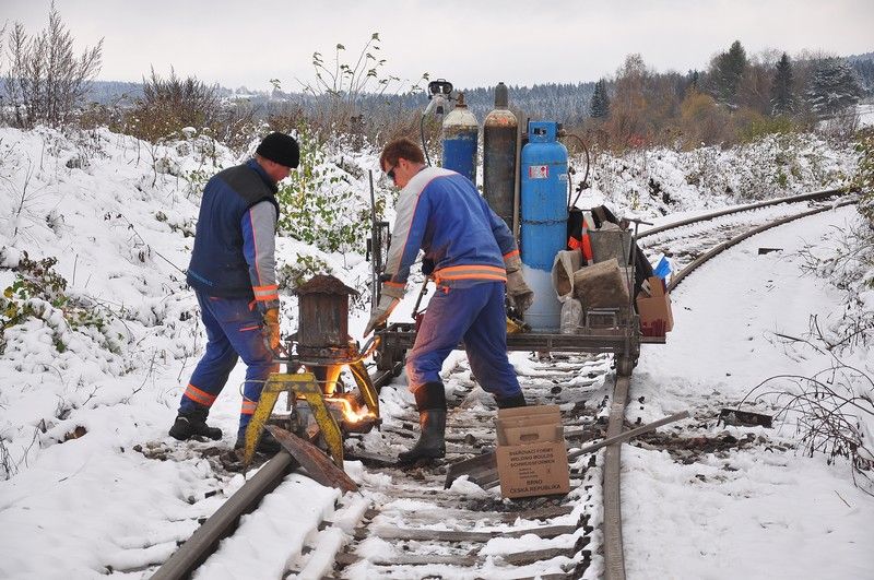
[[[853,203],[827,202],[841,193],[824,191],[714,212],[643,232],[639,238],[641,246],[683,265],[673,288],[706,260],[758,232]],[[803,203],[815,206],[799,212]],[[776,206],[780,210],[775,213]],[[737,232],[740,224],[746,224],[743,232]],[[569,449],[627,430],[629,377],[611,372],[609,355],[532,354],[513,363],[531,404],[560,406]],[[607,446],[603,455],[595,451],[576,458],[570,464],[571,492],[565,497],[506,500],[464,481],[445,490],[448,463],[494,445],[491,396],[470,378],[465,362],[452,375],[447,381],[446,461],[404,471],[374,459],[397,455],[412,443],[417,421],[412,405],[409,412],[386,416],[380,431],[351,437],[350,455],[359,457],[374,476],[365,478],[357,493],[340,498],[335,521],[322,522],[303,553],[290,558],[284,577],[624,579],[621,443]],[[153,578],[190,576],[221,538],[233,533],[241,514],[256,509],[297,467],[285,453],[270,460]]]

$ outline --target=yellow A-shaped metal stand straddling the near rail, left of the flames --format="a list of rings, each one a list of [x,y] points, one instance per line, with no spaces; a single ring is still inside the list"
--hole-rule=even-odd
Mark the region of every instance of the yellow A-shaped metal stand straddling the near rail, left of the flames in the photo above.
[[[255,450],[258,448],[258,441],[261,439],[264,425],[267,425],[270,414],[273,413],[273,405],[276,404],[276,400],[282,392],[287,392],[288,396],[294,399],[297,399],[299,395],[307,402],[319,426],[319,430],[324,438],[324,443],[328,446],[328,454],[331,455],[334,464],[342,470],[343,436],[340,433],[340,426],[336,424],[333,415],[328,411],[319,383],[311,372],[297,372],[293,375],[287,372],[273,372],[268,377],[264,389],[261,391],[258,406],[256,406],[249,426],[246,428],[246,447],[244,448],[243,458],[246,466],[248,466],[252,458],[255,458]]]

